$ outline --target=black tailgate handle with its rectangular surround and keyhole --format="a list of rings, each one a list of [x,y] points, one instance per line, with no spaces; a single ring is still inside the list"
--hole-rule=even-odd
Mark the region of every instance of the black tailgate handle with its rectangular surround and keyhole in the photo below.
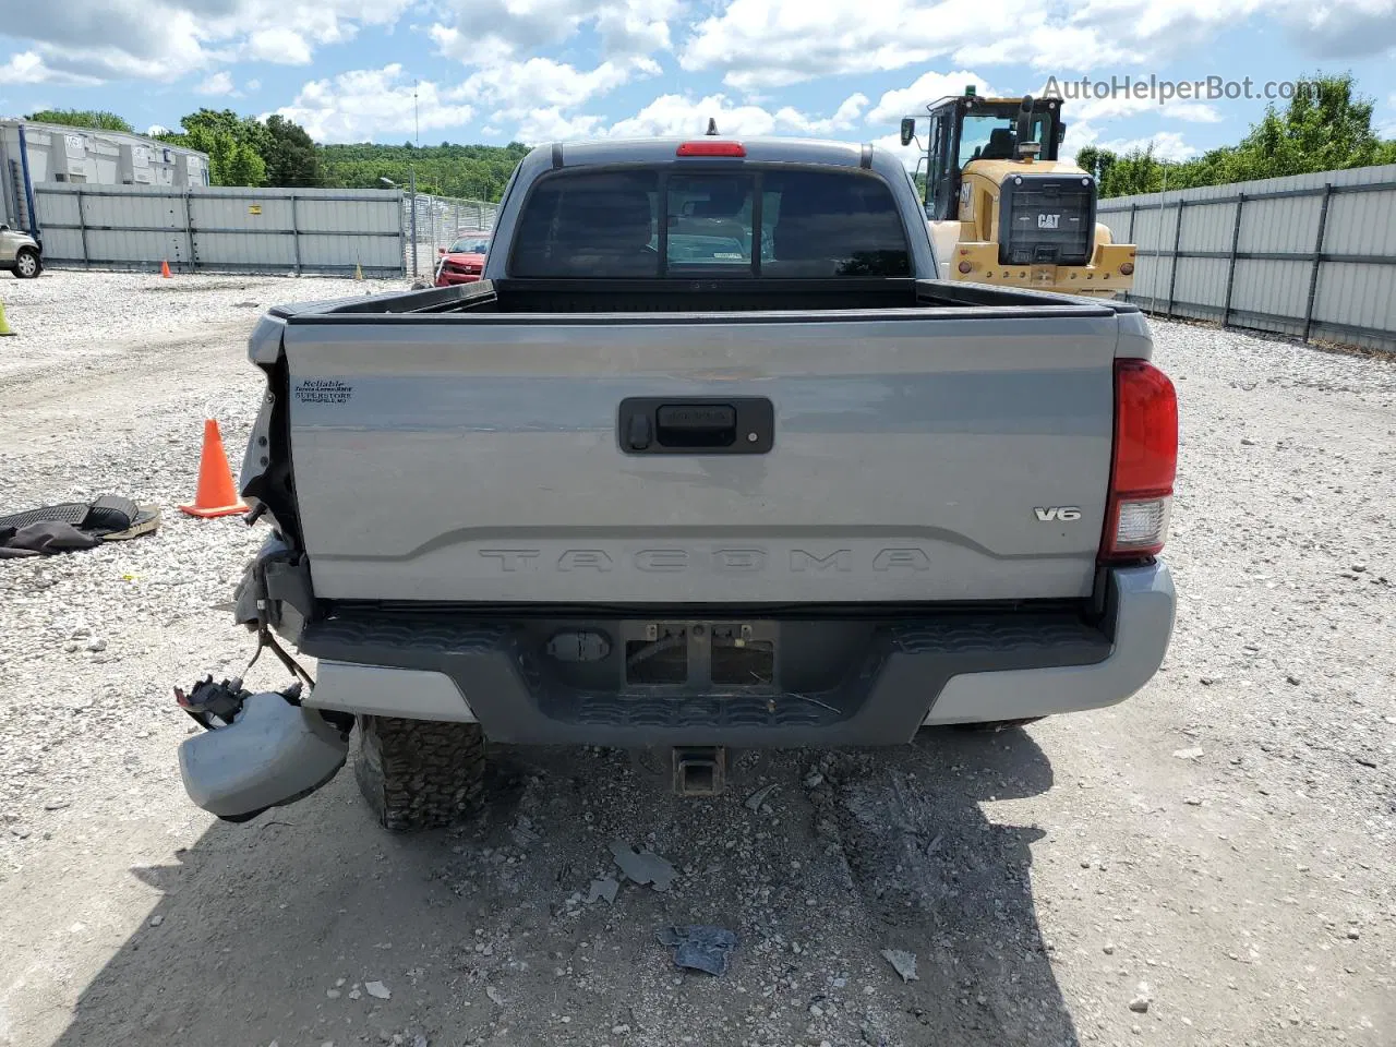
[[[617,413],[620,447],[631,455],[764,455],[775,444],[766,396],[630,396]]]

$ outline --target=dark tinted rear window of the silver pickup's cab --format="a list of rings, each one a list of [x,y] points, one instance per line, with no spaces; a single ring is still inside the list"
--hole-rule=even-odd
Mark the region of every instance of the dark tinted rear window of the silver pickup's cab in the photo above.
[[[909,276],[896,200],[853,170],[564,170],[524,204],[519,278]]]

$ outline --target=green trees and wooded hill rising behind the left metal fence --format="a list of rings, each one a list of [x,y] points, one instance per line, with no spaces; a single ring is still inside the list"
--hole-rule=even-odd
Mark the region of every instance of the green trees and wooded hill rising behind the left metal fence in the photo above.
[[[135,134],[131,124],[105,110],[46,109],[25,120]],[[383,188],[384,179],[406,188],[447,197],[497,201],[514,168],[528,154],[522,142],[496,145],[416,147],[318,145],[293,120],[239,116],[232,109],[200,109],[159,141],[208,154],[214,186],[278,186],[295,188]]]

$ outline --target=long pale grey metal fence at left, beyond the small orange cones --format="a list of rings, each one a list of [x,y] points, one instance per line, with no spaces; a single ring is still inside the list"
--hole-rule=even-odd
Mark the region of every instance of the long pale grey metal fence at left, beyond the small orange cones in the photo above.
[[[403,275],[402,193],[161,188],[45,181],[34,187],[52,267],[181,272]]]

